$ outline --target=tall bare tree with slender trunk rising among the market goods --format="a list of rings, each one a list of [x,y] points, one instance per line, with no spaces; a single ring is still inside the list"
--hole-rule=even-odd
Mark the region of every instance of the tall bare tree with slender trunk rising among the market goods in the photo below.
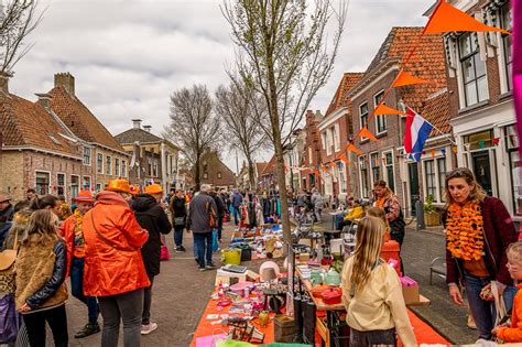
[[[308,8],[307,2],[313,7]],[[283,235],[291,241],[283,148],[303,120],[334,67],[348,9],[347,0],[224,0],[221,11],[237,45],[236,68],[262,98],[259,127],[273,143]],[[335,19],[328,47],[327,28]]]

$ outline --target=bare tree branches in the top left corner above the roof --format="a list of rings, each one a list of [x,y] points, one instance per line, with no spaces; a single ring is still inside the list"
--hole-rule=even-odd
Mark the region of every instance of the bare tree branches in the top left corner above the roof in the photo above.
[[[24,39],[36,29],[42,14],[36,12],[37,0],[0,0],[0,73],[12,74],[14,65],[31,50]]]

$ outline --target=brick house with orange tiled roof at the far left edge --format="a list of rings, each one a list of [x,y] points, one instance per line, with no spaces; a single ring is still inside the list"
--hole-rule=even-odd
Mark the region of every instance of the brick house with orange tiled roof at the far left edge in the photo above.
[[[83,164],[86,143],[76,139],[48,108],[50,96],[32,102],[9,93],[9,77],[0,77],[0,192],[14,199],[28,188],[36,193],[76,196],[90,167]]]

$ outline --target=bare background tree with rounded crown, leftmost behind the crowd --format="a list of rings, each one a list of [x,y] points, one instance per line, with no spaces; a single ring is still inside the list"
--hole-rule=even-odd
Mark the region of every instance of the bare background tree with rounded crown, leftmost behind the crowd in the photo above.
[[[200,184],[200,159],[219,141],[219,118],[213,112],[213,100],[204,85],[182,88],[171,96],[171,126],[166,135],[175,142],[194,167],[196,191]]]

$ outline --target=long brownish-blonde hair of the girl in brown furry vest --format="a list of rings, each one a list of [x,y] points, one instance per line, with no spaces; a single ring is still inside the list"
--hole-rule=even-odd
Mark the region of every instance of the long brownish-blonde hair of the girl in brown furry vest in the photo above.
[[[35,210],[29,218],[23,245],[54,242],[58,239],[56,226],[58,217],[48,209]]]

